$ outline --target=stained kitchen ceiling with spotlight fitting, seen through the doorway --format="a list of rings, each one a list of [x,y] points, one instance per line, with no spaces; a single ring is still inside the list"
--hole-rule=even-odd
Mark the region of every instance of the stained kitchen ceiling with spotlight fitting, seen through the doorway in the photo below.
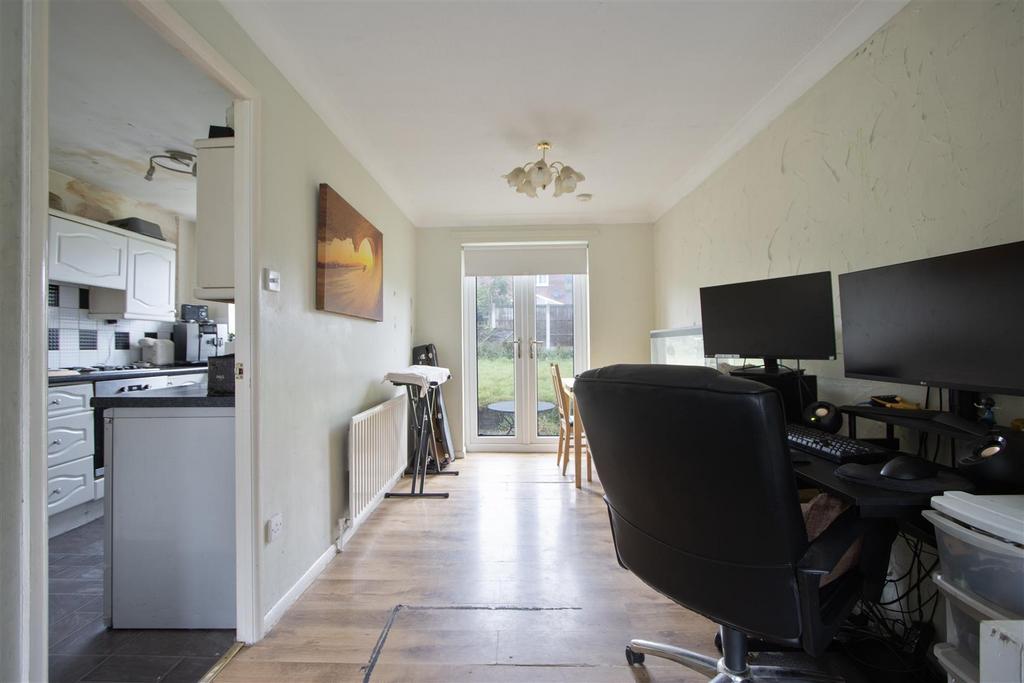
[[[49,56],[50,168],[195,218],[191,176],[142,176],[151,155],[195,153],[228,93],[118,0],[51,2]]]

